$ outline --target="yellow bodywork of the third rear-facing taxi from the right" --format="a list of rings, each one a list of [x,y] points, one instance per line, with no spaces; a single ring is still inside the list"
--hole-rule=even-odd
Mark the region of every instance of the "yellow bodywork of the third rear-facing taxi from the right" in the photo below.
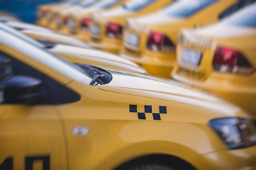
[[[95,47],[100,50],[106,50],[108,52],[112,52],[115,54],[119,54],[120,45],[122,44],[122,38],[109,38],[105,35],[107,30],[107,23],[113,22],[119,24],[124,28],[127,18],[129,17],[137,17],[146,15],[148,13],[152,13],[163,6],[166,6],[171,0],[156,0],[152,1],[151,4],[147,4],[143,6],[139,11],[128,11],[125,10],[124,7],[114,8],[110,11],[105,11],[99,13],[98,15],[92,16],[92,22],[90,24],[90,32],[94,25],[100,27],[100,33],[98,35],[94,35],[90,33],[90,42],[89,45]],[[136,2],[128,1],[127,4]],[[138,1],[139,2],[139,1]],[[125,6],[126,4],[124,4]]]

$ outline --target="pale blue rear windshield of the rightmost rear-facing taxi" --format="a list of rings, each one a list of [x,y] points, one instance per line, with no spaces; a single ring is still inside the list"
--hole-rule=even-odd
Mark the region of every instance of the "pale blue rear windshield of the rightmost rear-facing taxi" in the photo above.
[[[232,16],[225,18],[220,24],[230,26],[256,27],[256,4],[243,8]]]

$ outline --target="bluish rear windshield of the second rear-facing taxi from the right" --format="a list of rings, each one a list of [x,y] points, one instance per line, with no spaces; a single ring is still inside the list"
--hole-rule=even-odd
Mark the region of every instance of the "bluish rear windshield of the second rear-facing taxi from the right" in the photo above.
[[[167,16],[188,17],[217,0],[178,0],[166,6],[161,13]]]

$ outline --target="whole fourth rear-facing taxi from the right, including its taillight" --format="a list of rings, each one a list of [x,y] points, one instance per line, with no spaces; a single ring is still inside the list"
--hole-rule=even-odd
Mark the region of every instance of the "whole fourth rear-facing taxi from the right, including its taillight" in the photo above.
[[[60,33],[75,35],[75,38],[87,42],[90,38],[89,26],[92,13],[117,8],[117,6],[124,4],[124,2],[124,0],[102,0],[90,8],[85,8],[81,11],[73,11],[68,17],[68,22],[60,28]]]

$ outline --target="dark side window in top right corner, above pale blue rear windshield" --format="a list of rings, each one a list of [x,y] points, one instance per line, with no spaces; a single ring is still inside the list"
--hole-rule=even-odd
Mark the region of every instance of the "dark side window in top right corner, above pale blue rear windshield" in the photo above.
[[[237,4],[231,6],[227,10],[225,10],[223,13],[220,14],[219,18],[225,18],[226,16],[229,16],[231,13],[234,13],[235,11],[238,11],[240,8],[243,8],[245,6],[248,6],[255,2],[256,0],[243,0],[239,1]]]

